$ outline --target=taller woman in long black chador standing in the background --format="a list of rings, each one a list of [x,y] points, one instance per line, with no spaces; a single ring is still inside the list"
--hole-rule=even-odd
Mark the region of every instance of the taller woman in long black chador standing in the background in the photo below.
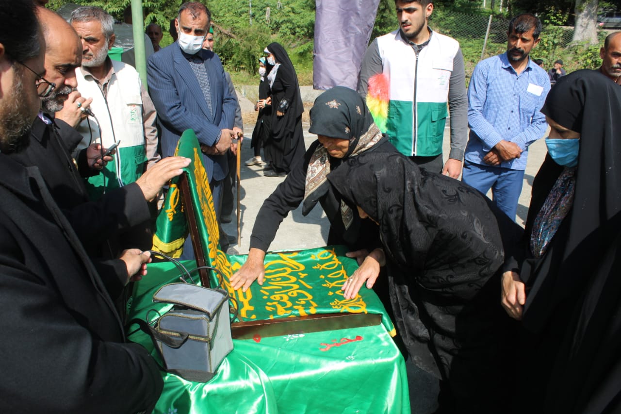
[[[304,157],[304,105],[296,70],[284,47],[274,42],[268,45],[265,53],[267,63],[273,67],[267,75],[272,108],[271,135],[263,144],[263,154],[270,165],[263,175],[284,177],[293,164]]]

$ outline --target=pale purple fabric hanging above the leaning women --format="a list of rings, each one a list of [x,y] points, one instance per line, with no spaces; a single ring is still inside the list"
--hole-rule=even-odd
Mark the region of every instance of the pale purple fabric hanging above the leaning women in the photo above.
[[[313,87],[356,89],[379,0],[316,0]]]

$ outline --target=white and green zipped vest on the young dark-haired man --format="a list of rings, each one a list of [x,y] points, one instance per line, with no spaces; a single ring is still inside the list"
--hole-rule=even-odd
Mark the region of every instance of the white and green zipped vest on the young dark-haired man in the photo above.
[[[417,58],[399,30],[378,37],[383,73],[390,82],[386,134],[402,154],[442,154],[448,85],[459,47],[457,40],[432,32]]]

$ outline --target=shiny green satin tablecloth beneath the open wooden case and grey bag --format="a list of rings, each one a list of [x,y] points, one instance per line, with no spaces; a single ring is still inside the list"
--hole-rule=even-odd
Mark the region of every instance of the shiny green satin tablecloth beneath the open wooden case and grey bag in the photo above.
[[[307,255],[314,260],[322,250],[325,251],[302,251],[297,256]],[[312,251],[315,251],[315,257]],[[278,258],[289,254],[292,253],[268,254],[266,264],[278,262]],[[231,256],[231,261],[234,267],[243,263],[245,257]],[[188,269],[194,267],[193,262],[183,264]],[[130,318],[152,321],[158,315],[151,310],[161,314],[168,311],[171,305],[153,303],[153,293],[165,283],[178,282],[178,277],[179,272],[171,263],[148,265],[148,275],[136,283],[129,305]],[[314,287],[316,283],[312,283],[311,279],[304,278],[309,286]],[[251,290],[257,288],[255,283]],[[383,313],[381,302],[371,290],[363,288],[361,296],[367,311]],[[317,312],[323,313],[324,309],[334,311],[318,306]],[[256,312],[260,315],[258,310]],[[129,339],[142,344],[161,363],[147,334],[138,331]],[[384,325],[272,338],[234,339],[233,346],[233,351],[220,364],[214,379],[207,383],[189,382],[162,372],[165,385],[155,412],[410,412],[405,362]]]

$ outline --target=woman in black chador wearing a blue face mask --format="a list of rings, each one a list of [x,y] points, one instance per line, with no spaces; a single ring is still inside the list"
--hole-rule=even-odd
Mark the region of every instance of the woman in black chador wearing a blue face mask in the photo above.
[[[503,275],[502,303],[525,328],[515,400],[520,412],[620,412],[621,90],[575,71],[542,113],[548,155]]]

